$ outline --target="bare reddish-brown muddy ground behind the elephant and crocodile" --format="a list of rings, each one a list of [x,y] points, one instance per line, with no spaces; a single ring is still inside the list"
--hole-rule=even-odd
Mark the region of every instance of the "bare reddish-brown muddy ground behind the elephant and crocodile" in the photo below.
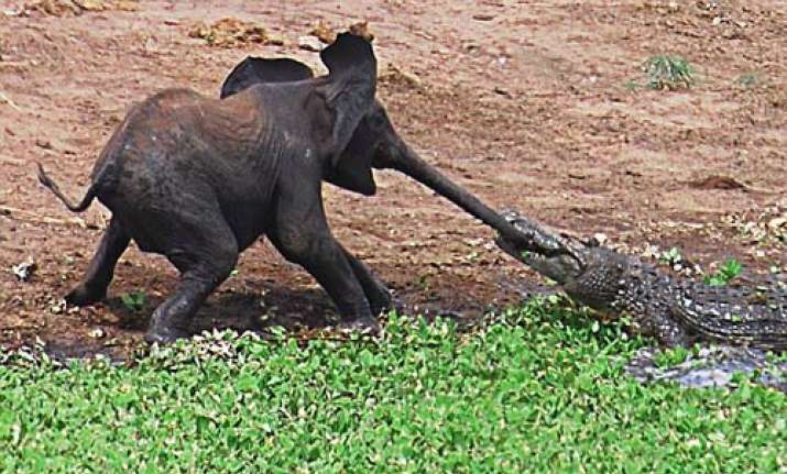
[[[57,301],[84,273],[109,213],[98,203],[68,213],[37,184],[34,163],[80,196],[134,101],[174,86],[216,96],[250,54],[316,66],[317,53],[299,47],[299,37],[317,23],[369,22],[379,97],[401,134],[493,207],[603,233],[630,252],[677,246],[706,271],[735,257],[747,279],[787,272],[781,0],[26,4],[0,0],[6,348],[40,338],[66,352],[122,353],[176,283],[163,257],[132,245],[108,302],[62,308]],[[259,23],[267,43],[248,42],[260,34],[225,44],[195,37],[198,22],[222,18]],[[642,63],[659,54],[688,59],[695,85],[642,87]],[[490,244],[490,230],[448,201],[395,173],[376,179],[375,197],[327,186],[326,207],[338,238],[408,305],[472,319],[538,286],[536,275]],[[11,266],[28,258],[37,268],[20,282]],[[135,291],[146,300],[133,312],[120,296]],[[200,310],[195,330],[253,328],[264,318],[319,327],[331,311],[305,272],[260,242]]]

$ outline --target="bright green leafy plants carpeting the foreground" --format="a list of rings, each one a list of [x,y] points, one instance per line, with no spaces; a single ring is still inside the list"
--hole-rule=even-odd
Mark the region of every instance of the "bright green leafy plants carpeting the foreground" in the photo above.
[[[787,397],[643,386],[646,343],[529,304],[472,333],[218,334],[134,366],[0,367],[1,472],[787,472]]]

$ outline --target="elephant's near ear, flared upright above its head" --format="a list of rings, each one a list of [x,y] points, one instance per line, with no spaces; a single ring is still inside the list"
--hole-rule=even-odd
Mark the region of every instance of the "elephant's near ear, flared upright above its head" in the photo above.
[[[331,115],[330,136],[324,137],[330,156],[326,180],[351,191],[373,195],[372,136],[363,121],[374,104],[378,63],[372,46],[360,36],[341,33],[320,53],[328,67],[317,86]],[[359,126],[360,125],[360,126]]]

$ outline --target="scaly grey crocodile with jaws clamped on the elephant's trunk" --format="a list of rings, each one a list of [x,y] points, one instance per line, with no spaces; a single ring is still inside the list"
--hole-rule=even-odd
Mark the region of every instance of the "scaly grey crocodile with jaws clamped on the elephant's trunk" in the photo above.
[[[514,227],[536,232],[561,254],[531,252],[504,236],[495,243],[562,287],[571,299],[608,316],[630,318],[631,331],[667,346],[713,341],[773,351],[787,350],[787,290],[711,286],[668,275],[638,257],[582,240],[516,211],[501,214]]]

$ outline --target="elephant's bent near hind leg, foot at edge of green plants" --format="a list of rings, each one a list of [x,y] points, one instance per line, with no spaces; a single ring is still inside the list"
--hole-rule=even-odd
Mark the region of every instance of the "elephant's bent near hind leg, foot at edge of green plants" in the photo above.
[[[188,323],[205,299],[232,272],[238,244],[221,216],[205,216],[209,225],[179,229],[177,242],[164,252],[181,272],[175,293],[151,317],[145,341],[166,344],[189,335]]]

